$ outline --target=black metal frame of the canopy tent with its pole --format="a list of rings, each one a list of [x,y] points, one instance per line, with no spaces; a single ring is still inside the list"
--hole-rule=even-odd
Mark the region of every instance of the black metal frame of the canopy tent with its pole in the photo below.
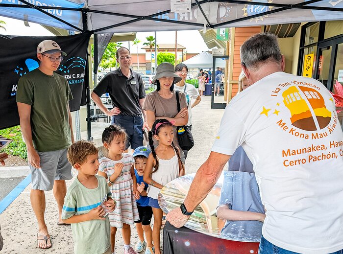
[[[12,8],[30,8],[30,9],[36,9],[39,12],[42,12],[43,14],[46,14],[47,16],[49,16],[50,18],[57,20],[61,23],[67,24],[68,26],[70,26],[71,28],[81,32],[81,33],[91,33],[91,34],[95,34],[95,33],[101,33],[102,31],[105,31],[107,29],[111,29],[114,27],[118,27],[118,26],[122,26],[125,24],[129,24],[129,23],[135,23],[135,22],[139,22],[139,21],[143,21],[143,20],[151,20],[151,21],[159,21],[159,22],[164,22],[164,23],[177,23],[177,24],[184,24],[184,25],[192,25],[192,26],[204,26],[205,24],[202,23],[193,23],[193,22],[185,22],[185,21],[175,21],[175,20],[165,20],[165,19],[161,19],[161,18],[156,18],[159,15],[163,15],[163,14],[167,14],[170,13],[171,10],[166,10],[166,11],[161,11],[158,13],[154,13],[151,15],[147,15],[147,16],[137,16],[137,15],[129,15],[129,14],[123,14],[123,13],[115,13],[115,12],[106,12],[106,11],[98,11],[98,10],[92,10],[89,8],[67,8],[67,7],[57,7],[57,6],[36,6],[34,4],[31,4],[29,2],[27,2],[26,0],[18,0],[20,2],[22,2],[23,4],[7,4],[7,3],[0,3],[0,7],[12,7]],[[268,14],[272,14],[272,13],[277,13],[280,11],[284,11],[284,10],[289,10],[289,9],[312,9],[312,10],[324,10],[324,11],[336,11],[336,12],[343,12],[342,8],[335,8],[335,7],[317,7],[317,6],[308,6],[309,4],[312,3],[317,3],[320,2],[322,0],[309,0],[307,2],[300,2],[297,4],[282,4],[282,3],[270,3],[270,2],[260,2],[260,1],[247,1],[247,0],[195,0],[194,3],[192,3],[192,7],[193,6],[197,6],[201,12],[201,14],[203,15],[203,17],[206,20],[206,28],[219,28],[228,24],[232,24],[232,23],[237,23],[237,22],[241,22],[241,21],[245,21],[245,20],[249,20],[252,18],[258,18],[261,16],[265,16]],[[251,16],[247,16],[247,17],[242,17],[242,18],[238,18],[238,19],[234,19],[231,21],[227,21],[227,22],[222,22],[222,23],[217,23],[217,24],[211,24],[207,18],[207,16],[205,15],[204,10],[201,7],[201,4],[203,3],[208,3],[208,2],[225,2],[225,3],[233,3],[233,4],[254,4],[254,5],[261,5],[261,6],[270,6],[270,7],[278,7],[278,9],[274,9],[274,10],[270,10],[270,11],[266,11],[266,12],[262,12],[262,13],[258,13],[255,15],[251,15]],[[55,9],[55,10],[67,10],[67,11],[78,11],[81,12],[81,16],[82,16],[82,28],[79,28],[71,23],[68,23],[52,14],[50,14],[49,12],[45,11],[45,10],[50,10],[50,9]],[[104,15],[112,15],[112,16],[118,16],[118,17],[126,17],[126,18],[132,18],[132,20],[126,21],[126,22],[122,22],[122,23],[117,23],[117,24],[113,24],[113,25],[109,25],[109,26],[105,26],[102,28],[98,28],[95,30],[88,30],[88,13],[98,13],[98,14],[104,14]],[[98,54],[98,50],[96,50],[96,48],[98,48],[98,40],[94,40],[94,44],[95,44],[95,54]],[[88,73],[89,71],[91,71],[89,69],[88,66],[88,58],[87,58],[87,63],[86,63],[86,68],[85,68],[85,73]],[[96,72],[96,70],[95,70]],[[96,73],[95,73],[96,75]],[[92,117],[91,116],[91,97],[90,97],[90,80],[89,80],[89,75],[85,75],[85,80],[84,80],[84,84],[85,84],[85,90],[86,90],[86,106],[87,106],[87,136],[88,136],[88,140],[92,140],[93,138],[91,137],[92,132],[91,132],[91,122],[95,121],[97,119],[97,117]]]

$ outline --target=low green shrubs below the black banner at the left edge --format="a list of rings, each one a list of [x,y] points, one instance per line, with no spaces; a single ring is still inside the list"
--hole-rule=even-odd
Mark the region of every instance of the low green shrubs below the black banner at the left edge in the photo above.
[[[22,137],[20,126],[14,126],[11,128],[0,130],[0,135],[13,140],[6,148],[1,150],[1,152],[19,156],[24,160],[27,160],[26,145]]]

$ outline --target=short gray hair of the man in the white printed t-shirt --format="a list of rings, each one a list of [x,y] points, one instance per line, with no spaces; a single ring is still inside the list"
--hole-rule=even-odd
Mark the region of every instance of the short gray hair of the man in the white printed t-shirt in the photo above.
[[[271,33],[259,33],[252,36],[241,46],[241,61],[248,69],[259,69],[261,64],[281,62],[281,51],[277,36]]]

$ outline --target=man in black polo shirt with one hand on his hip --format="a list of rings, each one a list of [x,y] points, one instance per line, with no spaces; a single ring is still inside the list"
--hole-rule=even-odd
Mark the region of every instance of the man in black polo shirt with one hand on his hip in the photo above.
[[[107,73],[93,90],[91,97],[100,110],[106,115],[113,116],[112,124],[123,127],[128,139],[126,149],[136,149],[143,146],[143,130],[148,128],[145,112],[142,110],[146,92],[140,74],[130,69],[131,56],[126,47],[120,47],[116,53],[119,68]],[[102,103],[100,96],[110,94],[113,109],[108,110]]]

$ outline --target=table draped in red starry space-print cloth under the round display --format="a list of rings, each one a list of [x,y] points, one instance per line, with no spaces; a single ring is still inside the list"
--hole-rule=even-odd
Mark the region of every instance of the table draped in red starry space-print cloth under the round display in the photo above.
[[[259,243],[239,242],[202,234],[168,221],[163,229],[163,254],[257,254]]]

